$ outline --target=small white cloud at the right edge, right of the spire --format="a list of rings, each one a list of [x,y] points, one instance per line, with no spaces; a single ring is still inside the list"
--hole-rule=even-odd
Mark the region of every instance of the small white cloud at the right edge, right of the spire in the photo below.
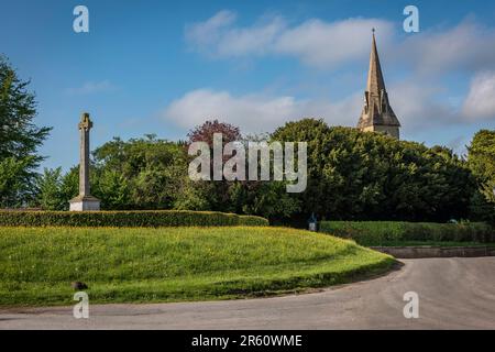
[[[462,112],[469,120],[495,118],[495,72],[474,76]]]

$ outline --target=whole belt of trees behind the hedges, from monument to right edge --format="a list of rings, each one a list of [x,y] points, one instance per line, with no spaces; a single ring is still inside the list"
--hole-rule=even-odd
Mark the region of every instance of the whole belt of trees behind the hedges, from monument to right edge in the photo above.
[[[197,141],[211,146],[213,133],[223,133],[223,143],[241,139],[237,128],[218,121],[195,128],[185,142],[154,135],[114,139],[94,152],[91,194],[101,199],[106,210],[211,210],[275,221],[290,218],[305,222],[315,212],[318,219],[329,220],[444,222],[485,220],[477,216],[481,208],[493,212],[479,190],[480,183],[490,183],[492,174],[475,170],[490,168],[483,165],[490,163],[491,154],[485,156],[479,143],[473,143],[466,163],[441,146],[331,128],[315,119],[289,122],[268,139],[308,142],[308,186],[301,194],[287,194],[284,182],[190,180],[188,163],[195,156],[188,155],[187,146]],[[493,142],[485,144],[491,147]],[[77,167],[64,176],[56,169],[45,170],[38,182],[37,204],[46,210],[67,209],[68,199],[78,191],[77,175]]]

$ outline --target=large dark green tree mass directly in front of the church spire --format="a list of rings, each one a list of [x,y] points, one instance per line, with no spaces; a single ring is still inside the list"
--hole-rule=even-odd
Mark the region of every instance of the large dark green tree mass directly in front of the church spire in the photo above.
[[[289,122],[273,139],[308,142],[308,187],[295,196],[306,216],[446,221],[468,215],[476,188],[465,163],[446,147],[314,119]]]

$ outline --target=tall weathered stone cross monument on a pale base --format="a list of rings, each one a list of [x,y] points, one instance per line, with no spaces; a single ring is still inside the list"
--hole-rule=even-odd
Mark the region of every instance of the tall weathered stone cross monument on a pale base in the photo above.
[[[70,211],[100,210],[100,200],[89,193],[89,130],[91,128],[89,113],[82,113],[79,122],[79,196],[69,200]]]

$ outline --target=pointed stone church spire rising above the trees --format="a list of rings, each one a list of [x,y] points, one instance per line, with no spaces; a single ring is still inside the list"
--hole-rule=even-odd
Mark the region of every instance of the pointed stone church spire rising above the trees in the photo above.
[[[358,122],[358,129],[364,132],[382,132],[399,139],[399,128],[400,123],[388,102],[382,67],[380,66],[378,51],[376,50],[375,31],[373,30],[364,108]]]

